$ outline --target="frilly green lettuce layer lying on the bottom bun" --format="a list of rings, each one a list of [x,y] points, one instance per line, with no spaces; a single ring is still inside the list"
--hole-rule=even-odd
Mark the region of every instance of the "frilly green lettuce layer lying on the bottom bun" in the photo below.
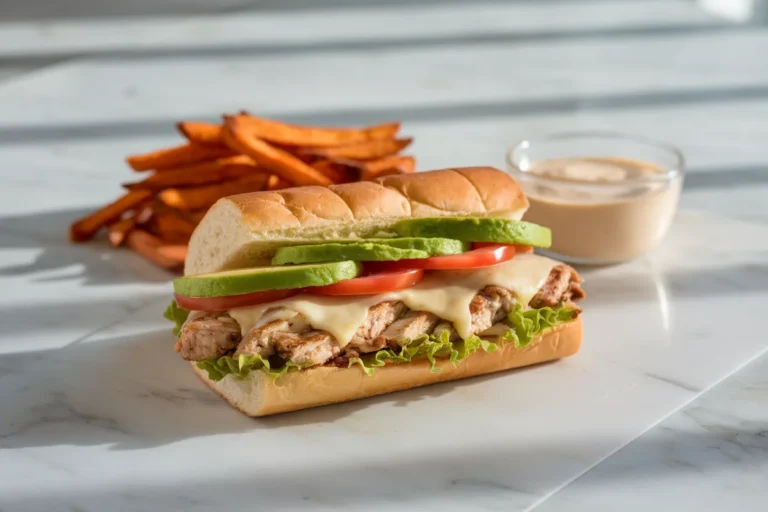
[[[170,306],[169,309],[171,309]],[[529,310],[523,310],[518,306],[507,317],[512,327],[504,336],[497,337],[495,342],[474,335],[466,340],[452,342],[449,333],[443,331],[437,336],[424,335],[413,340],[406,340],[396,349],[385,348],[378,352],[351,358],[349,367],[356,364],[360,365],[363,372],[372,376],[376,368],[386,364],[410,363],[416,359],[426,359],[430,363],[430,371],[438,372],[440,371],[440,368],[437,367],[438,359],[448,359],[456,366],[478,350],[493,353],[506,343],[514,343],[516,348],[522,348],[533,341],[542,331],[550,329],[558,323],[571,320],[575,315],[574,311],[563,306]],[[208,359],[198,362],[197,366],[207,371],[211,380],[218,381],[230,374],[242,379],[255,370],[263,371],[271,378],[277,378],[287,372],[301,370],[312,365],[299,365],[289,361],[279,368],[273,368],[268,360],[259,355],[241,355],[238,358],[224,356]]]

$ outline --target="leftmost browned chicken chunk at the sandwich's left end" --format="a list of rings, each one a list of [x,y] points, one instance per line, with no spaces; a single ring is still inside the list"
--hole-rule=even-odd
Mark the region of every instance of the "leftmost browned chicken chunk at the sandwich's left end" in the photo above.
[[[206,313],[187,320],[173,350],[187,361],[221,357],[240,343],[240,324],[227,313]]]

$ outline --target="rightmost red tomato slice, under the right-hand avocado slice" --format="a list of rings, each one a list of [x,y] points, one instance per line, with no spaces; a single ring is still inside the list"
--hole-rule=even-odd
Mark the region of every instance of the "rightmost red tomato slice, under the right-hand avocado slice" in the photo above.
[[[383,272],[420,268],[424,270],[461,270],[490,267],[511,260],[515,256],[515,246],[508,244],[487,243],[483,247],[451,256],[432,256],[431,258],[377,261],[366,266],[371,271]]]

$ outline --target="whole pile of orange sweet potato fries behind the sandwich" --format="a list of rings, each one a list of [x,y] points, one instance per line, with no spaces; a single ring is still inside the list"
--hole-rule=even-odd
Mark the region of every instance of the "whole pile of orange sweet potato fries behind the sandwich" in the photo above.
[[[332,185],[413,172],[416,160],[400,152],[400,123],[365,128],[298,126],[252,116],[222,116],[220,124],[177,124],[186,141],[132,155],[137,172],[126,192],[70,228],[73,242],[106,228],[115,247],[125,245],[153,263],[178,270],[195,226],[222,197],[301,185]]]

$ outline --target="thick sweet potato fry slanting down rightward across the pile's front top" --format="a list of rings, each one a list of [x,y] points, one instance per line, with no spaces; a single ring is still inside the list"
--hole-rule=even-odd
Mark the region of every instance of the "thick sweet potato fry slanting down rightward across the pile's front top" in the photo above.
[[[253,158],[271,173],[296,185],[332,185],[323,173],[285,151],[257,139],[243,127],[241,118],[225,118],[224,141],[232,149]]]

